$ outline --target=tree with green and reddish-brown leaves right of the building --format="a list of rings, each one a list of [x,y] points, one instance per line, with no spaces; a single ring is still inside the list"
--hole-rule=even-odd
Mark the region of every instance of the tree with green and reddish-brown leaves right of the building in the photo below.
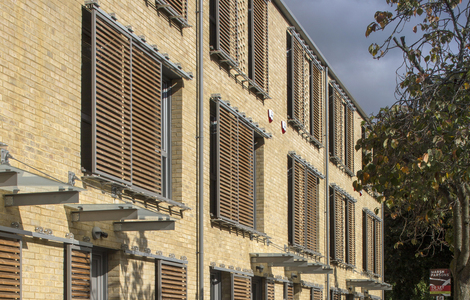
[[[408,230],[397,246],[409,241],[425,255],[448,245],[454,299],[470,299],[470,3],[386,1],[393,12],[376,12],[366,36],[391,34],[369,52],[379,59],[398,49],[404,63],[397,102],[371,117],[356,145],[365,166],[354,187],[404,218]],[[416,38],[407,43],[405,33]]]

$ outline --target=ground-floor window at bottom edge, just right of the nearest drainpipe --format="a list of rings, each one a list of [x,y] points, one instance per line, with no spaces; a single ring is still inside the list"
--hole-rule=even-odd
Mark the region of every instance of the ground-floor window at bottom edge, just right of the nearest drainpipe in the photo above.
[[[211,270],[211,300],[251,300],[251,277]]]

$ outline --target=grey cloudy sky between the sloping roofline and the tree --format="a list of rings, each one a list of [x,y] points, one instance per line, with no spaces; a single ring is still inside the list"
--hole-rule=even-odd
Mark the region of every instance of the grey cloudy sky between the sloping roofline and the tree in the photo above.
[[[385,0],[283,0],[354,99],[369,115],[395,102],[397,68],[401,53],[380,60],[368,52],[385,34],[365,37],[378,10],[392,11]]]

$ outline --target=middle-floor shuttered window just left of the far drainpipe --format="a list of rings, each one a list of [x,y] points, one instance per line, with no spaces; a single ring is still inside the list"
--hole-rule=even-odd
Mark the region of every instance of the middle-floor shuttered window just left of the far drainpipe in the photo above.
[[[293,152],[288,170],[290,243],[303,251],[319,254],[319,181],[324,177]]]

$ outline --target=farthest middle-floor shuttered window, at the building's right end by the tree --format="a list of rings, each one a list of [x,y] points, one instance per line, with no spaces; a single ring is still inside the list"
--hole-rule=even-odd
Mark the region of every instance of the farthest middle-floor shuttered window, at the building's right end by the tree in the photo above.
[[[382,274],[382,220],[372,211],[364,209],[363,218],[363,267],[367,272]]]

